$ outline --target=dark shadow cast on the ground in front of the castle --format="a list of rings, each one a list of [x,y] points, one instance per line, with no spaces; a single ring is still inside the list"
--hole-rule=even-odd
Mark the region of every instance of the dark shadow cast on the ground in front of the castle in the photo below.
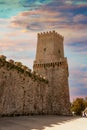
[[[61,125],[76,120],[72,116],[20,116],[0,118],[0,130],[44,130],[46,127]]]

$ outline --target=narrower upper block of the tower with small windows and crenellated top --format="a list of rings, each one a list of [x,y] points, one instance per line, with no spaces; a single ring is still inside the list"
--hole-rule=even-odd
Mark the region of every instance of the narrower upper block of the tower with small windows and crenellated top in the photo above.
[[[63,37],[55,31],[38,34],[36,61],[53,62],[60,58],[64,58]]]

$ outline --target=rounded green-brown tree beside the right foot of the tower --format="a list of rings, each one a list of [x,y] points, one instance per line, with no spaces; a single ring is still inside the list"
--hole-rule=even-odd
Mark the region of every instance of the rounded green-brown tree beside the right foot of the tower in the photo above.
[[[71,111],[75,112],[76,115],[81,115],[85,107],[86,107],[85,100],[83,98],[77,98],[71,104]]]

